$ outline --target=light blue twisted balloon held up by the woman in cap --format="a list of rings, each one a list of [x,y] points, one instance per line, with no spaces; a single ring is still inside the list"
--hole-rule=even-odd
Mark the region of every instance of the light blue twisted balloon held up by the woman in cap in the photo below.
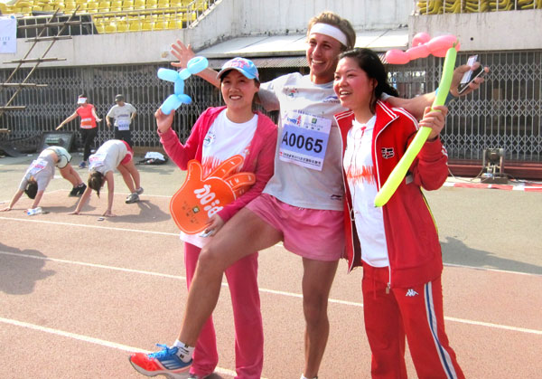
[[[192,99],[190,96],[184,93],[184,80],[189,76],[195,75],[207,68],[209,62],[205,57],[194,57],[186,64],[186,69],[182,71],[175,71],[169,69],[159,69],[158,78],[163,81],[173,81],[175,87],[173,88],[173,95],[170,95],[165,99],[162,104],[162,113],[169,115],[172,110],[181,107],[181,104],[190,104]]]

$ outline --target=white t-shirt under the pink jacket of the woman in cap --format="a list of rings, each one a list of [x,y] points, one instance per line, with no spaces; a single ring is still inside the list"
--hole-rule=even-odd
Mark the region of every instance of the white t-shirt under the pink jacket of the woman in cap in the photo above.
[[[248,122],[236,123],[226,116],[226,109],[222,110],[213,121],[205,138],[201,154],[201,167],[203,177],[209,175],[215,168],[231,156],[240,155],[246,158],[254,133],[257,128],[257,114]],[[237,171],[241,169],[240,165]],[[184,242],[194,246],[203,247],[212,237],[201,238],[198,234],[181,232]]]

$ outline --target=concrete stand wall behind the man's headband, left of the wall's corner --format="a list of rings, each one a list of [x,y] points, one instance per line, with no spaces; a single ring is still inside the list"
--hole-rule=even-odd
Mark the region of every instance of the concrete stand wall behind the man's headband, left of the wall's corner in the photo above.
[[[378,5],[378,6],[377,6]],[[113,33],[74,36],[55,43],[47,57],[66,58],[44,62],[47,66],[115,65],[173,61],[169,46],[176,39],[201,50],[243,35],[304,33],[308,20],[324,10],[347,16],[356,30],[395,28],[405,25],[413,4],[405,0],[220,0],[193,28],[179,31]],[[393,9],[393,12],[384,11]],[[31,57],[49,46],[38,43]],[[23,58],[29,43],[17,41],[17,54],[0,56],[2,62]],[[3,68],[14,64],[3,64]]]

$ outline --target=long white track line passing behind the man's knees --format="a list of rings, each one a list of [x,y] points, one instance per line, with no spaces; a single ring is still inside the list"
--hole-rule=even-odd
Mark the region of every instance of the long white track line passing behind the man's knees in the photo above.
[[[150,276],[156,276],[156,277],[162,277],[162,278],[168,278],[173,280],[186,280],[185,277],[179,276],[179,275],[171,275],[171,274],[163,274],[160,272],[153,272],[153,271],[145,271],[145,270],[132,270],[132,269],[125,269],[122,267],[116,267],[116,266],[107,266],[102,264],[96,264],[96,263],[88,263],[88,262],[80,262],[80,261],[69,261],[69,260],[61,260],[57,258],[48,258],[48,257],[38,257],[35,255],[29,255],[29,254],[20,254],[20,253],[14,253],[9,251],[0,251],[0,254],[3,255],[10,255],[14,257],[19,258],[29,258],[29,259],[35,259],[35,260],[41,260],[41,261],[53,261],[58,263],[66,263],[66,264],[72,264],[72,265],[79,265],[79,266],[87,266],[87,267],[93,267],[97,269],[105,269],[105,270],[116,270],[116,271],[124,271],[124,272],[131,272],[136,274],[143,274],[143,275],[150,275]],[[227,283],[222,283],[222,287],[228,287]],[[294,293],[294,292],[286,292],[286,291],[279,291],[276,289],[259,289],[262,293],[269,293],[273,295],[279,295],[279,296],[286,296],[290,298],[303,298],[302,294]],[[335,298],[329,299],[330,303],[333,304],[341,304],[351,307],[363,307],[363,303],[355,302],[355,301],[346,301],[346,300],[339,300]],[[507,325],[501,325],[501,324],[493,324],[489,322],[483,322],[483,321],[475,321],[475,320],[469,320],[465,318],[458,318],[458,317],[444,317],[444,319],[452,322],[458,322],[461,324],[468,324],[468,325],[478,325],[482,327],[493,327],[496,329],[504,329],[504,330],[511,330],[515,332],[521,332],[521,333],[528,333],[528,334],[534,334],[534,335],[542,335],[542,330],[537,329],[528,329],[526,327],[509,327]]]

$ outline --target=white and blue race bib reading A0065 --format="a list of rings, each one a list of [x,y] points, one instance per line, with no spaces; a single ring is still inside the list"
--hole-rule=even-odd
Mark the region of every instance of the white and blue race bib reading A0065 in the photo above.
[[[332,120],[291,111],[283,118],[279,159],[322,171]]]

